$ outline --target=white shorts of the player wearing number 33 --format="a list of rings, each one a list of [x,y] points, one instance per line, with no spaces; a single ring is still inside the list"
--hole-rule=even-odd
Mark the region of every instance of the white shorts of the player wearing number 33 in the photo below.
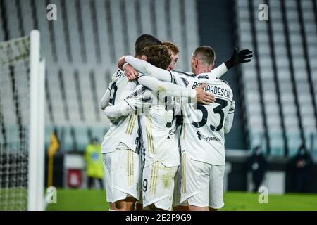
[[[181,205],[220,209],[223,203],[225,166],[192,160],[182,153]]]

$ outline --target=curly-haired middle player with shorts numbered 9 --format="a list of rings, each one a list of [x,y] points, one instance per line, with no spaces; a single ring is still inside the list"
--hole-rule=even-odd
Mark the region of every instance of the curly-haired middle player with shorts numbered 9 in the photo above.
[[[166,46],[149,46],[144,49],[144,56],[144,60],[159,68],[168,68],[170,65],[170,53]],[[148,76],[139,76],[138,82],[147,84],[151,89],[146,89],[142,85],[137,86],[131,96],[117,105],[108,106],[105,113],[113,120],[125,115],[135,115],[132,113],[137,109],[148,108],[148,113],[139,117],[142,124],[140,128],[144,149],[143,205],[144,208],[150,210],[171,210],[174,176],[180,161],[178,140],[175,135],[175,112],[173,97],[159,96],[157,92],[169,88],[174,92],[167,92],[168,95],[192,99],[198,97],[195,94],[199,91],[181,88],[168,82],[159,82],[159,80],[156,82],[160,89],[156,89],[148,78]]]

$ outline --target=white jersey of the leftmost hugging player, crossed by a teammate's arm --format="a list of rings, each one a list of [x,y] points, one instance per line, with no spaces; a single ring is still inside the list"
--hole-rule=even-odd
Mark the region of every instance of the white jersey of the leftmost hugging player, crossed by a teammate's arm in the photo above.
[[[109,105],[116,105],[127,96],[130,96],[135,90],[137,82],[130,82],[125,77],[125,72],[118,70],[113,74],[112,82],[108,89],[111,91]],[[124,143],[128,148],[137,152],[137,144],[139,137],[137,130],[137,115],[128,115],[120,117],[116,122],[110,123],[110,128],[104,136],[104,141],[101,144],[101,152],[109,153],[116,150],[120,143]]]

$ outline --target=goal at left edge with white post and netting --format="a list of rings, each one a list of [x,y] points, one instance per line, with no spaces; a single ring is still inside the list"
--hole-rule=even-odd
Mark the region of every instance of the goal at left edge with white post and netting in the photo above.
[[[43,210],[44,60],[39,32],[0,42],[0,210]]]

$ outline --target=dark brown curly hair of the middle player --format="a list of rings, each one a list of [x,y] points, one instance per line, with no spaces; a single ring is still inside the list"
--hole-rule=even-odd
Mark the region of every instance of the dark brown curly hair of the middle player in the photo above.
[[[142,51],[144,56],[147,56],[147,62],[155,65],[158,68],[166,70],[172,58],[170,58],[170,51],[164,45],[147,46]]]

